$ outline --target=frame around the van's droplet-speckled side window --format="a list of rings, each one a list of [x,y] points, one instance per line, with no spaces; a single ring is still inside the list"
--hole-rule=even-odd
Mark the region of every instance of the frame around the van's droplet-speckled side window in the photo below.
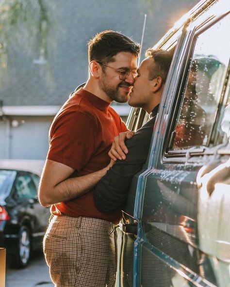
[[[207,155],[207,154],[214,154],[214,151],[211,152],[211,150],[210,150],[210,149],[212,149],[212,147],[208,147],[208,146],[206,146],[206,147],[205,146],[189,147],[187,149],[181,149],[181,150],[169,150],[169,148],[171,148],[171,145],[174,141],[175,125],[178,122],[178,117],[180,116],[180,106],[181,106],[181,103],[183,102],[182,92],[185,88],[185,84],[186,84],[186,80],[187,80],[187,76],[188,76],[188,68],[191,64],[191,60],[192,60],[191,57],[193,56],[193,53],[194,53],[194,49],[195,49],[196,42],[197,42],[197,37],[200,34],[202,34],[203,32],[207,31],[212,26],[214,26],[217,22],[219,22],[221,19],[223,19],[228,14],[229,14],[229,12],[225,13],[221,16],[208,18],[206,21],[204,21],[200,25],[194,27],[193,31],[190,31],[190,33],[191,33],[190,42],[186,47],[187,52],[184,55],[184,61],[182,64],[183,66],[182,66],[181,75],[179,78],[179,82],[181,84],[178,85],[178,87],[174,93],[175,95],[180,95],[180,96],[174,97],[174,101],[172,104],[172,111],[173,112],[170,113],[170,117],[168,120],[169,125],[167,127],[166,136],[164,138],[164,144],[163,144],[163,161],[164,162],[169,162],[169,161],[170,162],[171,161],[173,161],[173,162],[180,161],[181,162],[181,161],[187,161],[187,159],[191,158],[191,157],[203,156],[203,155]],[[191,22],[191,23],[189,23],[189,26],[190,25],[194,25],[194,23]],[[218,103],[218,106],[216,109],[214,124],[210,128],[210,134],[209,134],[207,145],[209,145],[210,140],[212,139],[213,134],[215,132],[214,128],[217,124],[216,119],[219,120],[219,117],[220,117],[220,115],[218,114],[218,111],[221,107],[221,103],[223,103],[223,100],[226,96],[226,90],[227,90],[227,86],[228,86],[227,83],[230,80],[229,74],[230,74],[230,63],[229,63],[229,66],[227,68],[227,72],[225,75],[225,82],[223,84],[220,100],[219,100],[219,103]],[[214,147],[216,147],[216,145],[214,145]],[[206,149],[208,149],[208,151]],[[230,151],[226,150],[226,154],[230,154]]]

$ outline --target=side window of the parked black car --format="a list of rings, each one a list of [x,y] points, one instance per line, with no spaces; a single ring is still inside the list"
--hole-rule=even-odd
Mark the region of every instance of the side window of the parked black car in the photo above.
[[[16,179],[16,191],[19,198],[35,198],[36,189],[29,175],[21,175]]]

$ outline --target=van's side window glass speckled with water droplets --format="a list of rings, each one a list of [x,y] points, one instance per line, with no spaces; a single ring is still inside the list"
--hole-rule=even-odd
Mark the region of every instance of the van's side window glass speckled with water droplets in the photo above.
[[[217,108],[224,105],[221,96],[230,57],[229,24],[230,16],[225,16],[196,39],[173,150],[207,146],[210,142]]]

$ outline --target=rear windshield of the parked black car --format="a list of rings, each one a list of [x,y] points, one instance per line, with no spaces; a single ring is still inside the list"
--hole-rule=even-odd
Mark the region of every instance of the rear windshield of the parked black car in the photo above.
[[[16,171],[0,170],[0,200],[4,200],[9,195],[15,177]]]

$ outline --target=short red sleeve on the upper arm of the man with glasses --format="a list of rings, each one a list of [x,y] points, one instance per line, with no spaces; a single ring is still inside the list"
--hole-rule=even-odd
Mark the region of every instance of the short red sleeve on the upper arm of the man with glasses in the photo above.
[[[59,116],[50,129],[47,159],[80,171],[94,152],[94,130],[93,121],[82,112]]]

